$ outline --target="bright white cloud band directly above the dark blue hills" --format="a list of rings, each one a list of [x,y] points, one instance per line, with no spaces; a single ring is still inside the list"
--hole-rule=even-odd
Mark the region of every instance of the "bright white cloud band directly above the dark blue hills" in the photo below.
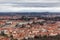
[[[60,7],[12,7],[0,6],[0,12],[60,12]]]

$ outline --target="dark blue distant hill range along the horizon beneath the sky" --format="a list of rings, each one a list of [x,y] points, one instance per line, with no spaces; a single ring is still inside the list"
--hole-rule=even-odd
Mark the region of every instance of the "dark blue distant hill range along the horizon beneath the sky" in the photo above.
[[[41,15],[60,15],[59,12],[0,12],[0,16],[41,16]]]

